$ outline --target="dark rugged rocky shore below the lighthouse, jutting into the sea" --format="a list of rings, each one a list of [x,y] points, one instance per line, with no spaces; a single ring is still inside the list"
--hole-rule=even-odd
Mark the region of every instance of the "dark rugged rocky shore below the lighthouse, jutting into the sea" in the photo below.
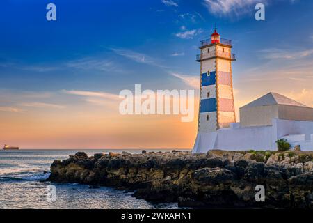
[[[51,164],[47,180],[134,191],[148,201],[212,208],[313,208],[313,153],[301,151],[79,152]],[[265,201],[255,187],[264,185]]]

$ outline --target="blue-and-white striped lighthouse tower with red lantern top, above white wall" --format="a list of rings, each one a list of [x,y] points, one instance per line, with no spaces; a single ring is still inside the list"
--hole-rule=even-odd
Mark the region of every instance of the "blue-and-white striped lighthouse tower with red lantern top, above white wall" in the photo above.
[[[200,51],[196,59],[200,62],[201,84],[195,146],[199,146],[201,134],[216,132],[236,122],[232,89],[232,61],[236,59],[232,41],[220,38],[215,29],[211,38],[200,42]]]

